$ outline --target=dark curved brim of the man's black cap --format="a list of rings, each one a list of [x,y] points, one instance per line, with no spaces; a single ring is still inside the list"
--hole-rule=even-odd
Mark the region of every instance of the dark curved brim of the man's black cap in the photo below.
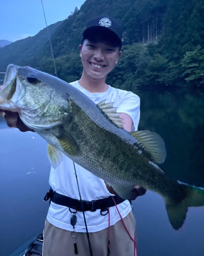
[[[82,39],[82,45],[84,44],[85,39],[95,43],[105,42],[107,45],[119,47],[119,51],[122,47],[120,39],[112,31],[94,30],[93,33],[89,33],[86,38]]]

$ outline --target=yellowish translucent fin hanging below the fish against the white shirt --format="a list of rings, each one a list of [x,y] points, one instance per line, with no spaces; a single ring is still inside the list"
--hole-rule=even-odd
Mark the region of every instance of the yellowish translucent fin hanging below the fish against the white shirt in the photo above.
[[[63,153],[49,143],[47,143],[47,153],[50,164],[56,169],[63,160]]]

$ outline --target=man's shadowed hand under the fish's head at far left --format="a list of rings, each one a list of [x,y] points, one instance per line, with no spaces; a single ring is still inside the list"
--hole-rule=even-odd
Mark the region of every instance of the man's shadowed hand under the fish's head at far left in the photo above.
[[[2,86],[0,86],[0,91],[1,91],[1,89],[2,89]],[[32,130],[29,127],[27,127],[26,125],[24,125],[24,123],[21,121],[17,112],[12,112],[12,111],[9,111],[9,110],[1,110],[0,109],[0,115],[4,119],[6,119],[7,125],[9,127],[16,127],[21,132],[27,132],[27,131],[35,132],[34,130]]]

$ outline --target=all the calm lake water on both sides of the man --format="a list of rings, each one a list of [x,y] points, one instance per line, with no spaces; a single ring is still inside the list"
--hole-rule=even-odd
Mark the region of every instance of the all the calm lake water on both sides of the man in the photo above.
[[[137,91],[141,98],[140,130],[159,133],[166,143],[162,169],[173,179],[204,188],[204,92]],[[0,248],[8,256],[43,229],[49,188],[46,142],[36,133],[21,133],[0,123]],[[138,256],[204,255],[204,207],[190,208],[175,231],[163,199],[148,191],[133,202]]]

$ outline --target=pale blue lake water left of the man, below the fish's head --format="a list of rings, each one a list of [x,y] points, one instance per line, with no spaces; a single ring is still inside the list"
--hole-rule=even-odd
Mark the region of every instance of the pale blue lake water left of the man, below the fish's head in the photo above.
[[[43,228],[50,167],[40,136],[0,127],[0,254],[7,256]]]

